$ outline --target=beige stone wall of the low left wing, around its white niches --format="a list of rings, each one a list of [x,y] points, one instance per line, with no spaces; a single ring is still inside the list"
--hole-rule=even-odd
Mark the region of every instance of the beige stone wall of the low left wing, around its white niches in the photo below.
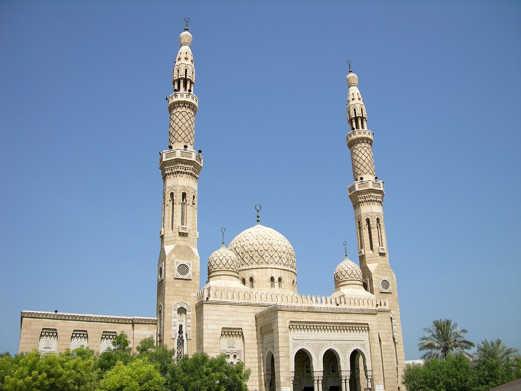
[[[58,333],[57,352],[70,347],[73,330],[86,330],[89,335],[88,347],[100,351],[102,333],[125,332],[130,340],[132,351],[144,338],[155,337],[156,325],[152,318],[132,318],[100,315],[65,314],[54,312],[22,312],[20,345],[18,352],[38,349],[42,328],[55,328]],[[97,319],[97,320],[96,320]],[[112,321],[111,321],[112,320]],[[115,321],[117,320],[117,321]],[[147,323],[138,323],[145,320]]]

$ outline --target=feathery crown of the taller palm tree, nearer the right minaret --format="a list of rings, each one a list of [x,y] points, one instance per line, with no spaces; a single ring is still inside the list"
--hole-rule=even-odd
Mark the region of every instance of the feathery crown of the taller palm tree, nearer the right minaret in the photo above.
[[[419,338],[419,350],[426,350],[421,358],[430,360],[433,358],[444,359],[447,356],[465,353],[466,349],[474,347],[474,344],[465,339],[468,332],[462,328],[457,330],[457,323],[450,319],[438,319],[432,322],[432,327],[424,328],[427,335]]]

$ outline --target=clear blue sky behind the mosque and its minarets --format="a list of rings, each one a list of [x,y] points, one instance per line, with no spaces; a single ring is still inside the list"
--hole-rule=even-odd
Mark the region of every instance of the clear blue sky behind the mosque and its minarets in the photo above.
[[[171,71],[191,18],[201,284],[262,222],[327,295],[356,256],[346,60],[375,132],[406,359],[448,317],[521,349],[519,2],[0,3],[0,351],[21,310],[154,316]]]

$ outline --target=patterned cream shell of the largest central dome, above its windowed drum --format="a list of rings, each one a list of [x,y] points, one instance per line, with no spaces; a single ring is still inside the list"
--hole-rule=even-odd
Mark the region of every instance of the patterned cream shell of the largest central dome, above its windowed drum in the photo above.
[[[296,271],[291,243],[275,229],[257,224],[235,236],[228,246],[241,267],[269,265]]]

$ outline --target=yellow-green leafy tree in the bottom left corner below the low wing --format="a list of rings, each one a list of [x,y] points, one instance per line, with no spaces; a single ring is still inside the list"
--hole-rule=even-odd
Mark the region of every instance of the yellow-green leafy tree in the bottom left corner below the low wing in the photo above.
[[[5,376],[6,391],[94,391],[98,381],[94,352],[40,355],[33,350],[14,361],[14,371]]]

